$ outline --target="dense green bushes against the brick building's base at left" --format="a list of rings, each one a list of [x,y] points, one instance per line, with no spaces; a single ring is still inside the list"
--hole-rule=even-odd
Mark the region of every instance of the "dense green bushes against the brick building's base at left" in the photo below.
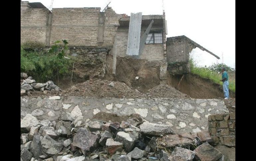
[[[21,72],[37,81],[56,80],[71,73],[73,60],[65,57],[66,40],[56,41],[47,51],[31,51],[21,46]]]

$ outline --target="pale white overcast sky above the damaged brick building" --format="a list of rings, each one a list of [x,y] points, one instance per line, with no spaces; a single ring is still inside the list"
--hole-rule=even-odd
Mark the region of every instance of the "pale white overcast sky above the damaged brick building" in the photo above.
[[[24,1],[24,0],[23,0]],[[50,7],[52,0],[41,2]],[[220,57],[230,67],[235,64],[235,1],[234,0],[54,0],[53,8],[109,7],[118,14],[142,12],[162,15],[165,10],[167,37],[185,35]],[[163,5],[164,4],[164,5]],[[192,50],[198,65],[211,65],[217,58],[199,48]]]

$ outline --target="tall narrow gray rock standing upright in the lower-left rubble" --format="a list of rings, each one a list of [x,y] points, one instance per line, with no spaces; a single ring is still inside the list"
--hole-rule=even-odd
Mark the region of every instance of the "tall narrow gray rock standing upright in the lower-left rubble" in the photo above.
[[[39,159],[39,156],[42,155],[42,145],[39,133],[34,133],[33,141],[31,143],[31,152],[36,159]]]

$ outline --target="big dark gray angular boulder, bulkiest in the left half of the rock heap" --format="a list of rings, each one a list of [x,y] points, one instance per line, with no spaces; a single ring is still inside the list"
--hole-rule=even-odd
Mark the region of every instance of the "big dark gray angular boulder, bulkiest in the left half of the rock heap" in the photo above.
[[[73,146],[81,149],[85,155],[86,151],[91,151],[97,145],[97,135],[91,134],[86,128],[79,128],[73,138]]]

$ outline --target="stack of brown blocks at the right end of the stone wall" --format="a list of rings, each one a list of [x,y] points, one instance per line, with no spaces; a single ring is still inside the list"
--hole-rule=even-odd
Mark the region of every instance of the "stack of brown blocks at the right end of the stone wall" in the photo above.
[[[214,143],[235,146],[235,113],[210,115],[208,130]]]

